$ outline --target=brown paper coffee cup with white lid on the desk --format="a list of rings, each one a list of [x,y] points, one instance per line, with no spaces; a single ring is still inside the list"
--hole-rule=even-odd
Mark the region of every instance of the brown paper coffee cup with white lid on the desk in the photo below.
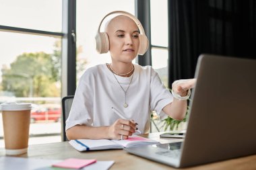
[[[6,155],[21,155],[28,151],[31,104],[3,103],[3,138]]]

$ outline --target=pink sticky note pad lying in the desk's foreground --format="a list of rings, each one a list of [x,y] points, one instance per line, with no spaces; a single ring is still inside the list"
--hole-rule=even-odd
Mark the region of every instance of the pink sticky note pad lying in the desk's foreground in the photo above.
[[[96,159],[65,159],[60,163],[55,163],[53,167],[62,167],[62,168],[71,168],[71,169],[80,169],[86,167],[92,163],[96,163]]]

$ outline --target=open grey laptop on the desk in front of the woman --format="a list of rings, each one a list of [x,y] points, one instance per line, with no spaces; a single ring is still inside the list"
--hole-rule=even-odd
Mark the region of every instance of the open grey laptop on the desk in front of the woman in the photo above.
[[[125,151],[172,167],[256,154],[256,60],[202,54],[183,142]]]

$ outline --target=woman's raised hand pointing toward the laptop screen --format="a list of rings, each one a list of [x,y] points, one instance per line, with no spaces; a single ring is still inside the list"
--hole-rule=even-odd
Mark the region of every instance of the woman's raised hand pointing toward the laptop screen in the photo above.
[[[181,79],[172,83],[172,91],[181,96],[186,96],[187,91],[195,87],[197,79]]]

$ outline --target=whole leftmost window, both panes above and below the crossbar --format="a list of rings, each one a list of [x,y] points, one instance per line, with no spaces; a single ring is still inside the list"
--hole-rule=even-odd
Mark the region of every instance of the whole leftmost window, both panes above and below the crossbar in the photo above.
[[[33,104],[29,144],[59,142],[62,1],[0,4],[0,103]]]

